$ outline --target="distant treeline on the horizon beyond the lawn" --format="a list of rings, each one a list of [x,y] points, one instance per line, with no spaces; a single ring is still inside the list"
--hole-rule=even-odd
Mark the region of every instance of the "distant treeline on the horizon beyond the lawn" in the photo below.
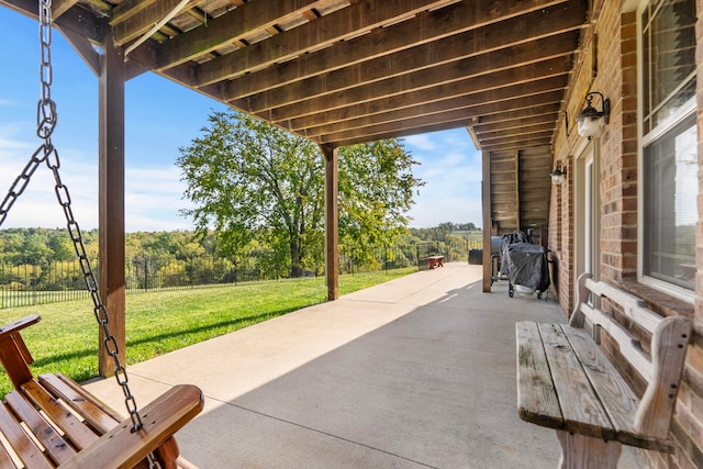
[[[457,232],[445,225],[411,230],[398,243],[362,252],[339,245],[339,271],[420,268],[422,259],[435,254],[444,255],[446,261],[464,260],[469,249],[480,247],[477,238],[480,232]],[[98,270],[98,232],[83,233],[83,244],[93,270]],[[198,237],[192,232],[130,233],[125,244],[127,292],[276,280],[289,275],[280,260],[267,256],[266,246],[231,258],[219,252],[213,236]],[[309,277],[323,273],[324,266],[303,271]],[[86,295],[80,264],[66,230],[0,231],[0,309]]]

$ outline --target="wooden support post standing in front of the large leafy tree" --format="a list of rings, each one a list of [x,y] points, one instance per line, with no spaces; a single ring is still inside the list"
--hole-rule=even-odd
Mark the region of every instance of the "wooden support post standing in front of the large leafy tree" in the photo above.
[[[338,248],[338,152],[331,145],[321,145],[325,157],[325,283],[327,300],[339,298],[339,248]]]

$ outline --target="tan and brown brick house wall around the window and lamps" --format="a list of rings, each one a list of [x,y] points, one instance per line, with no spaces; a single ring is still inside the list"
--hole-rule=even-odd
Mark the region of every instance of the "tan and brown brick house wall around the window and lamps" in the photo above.
[[[580,54],[571,79],[565,119],[571,126],[583,109],[588,91],[600,91],[611,99],[611,121],[601,138],[600,149],[600,276],[645,299],[659,314],[682,314],[694,320],[694,336],[689,347],[682,386],[671,438],[673,455],[640,451],[652,468],[703,467],[703,0],[696,0],[696,66],[699,127],[699,223],[696,226],[696,301],[690,303],[637,282],[637,16],[621,11],[621,3],[595,2],[594,25],[583,33],[584,49]],[[600,40],[599,40],[600,38]],[[594,49],[598,54],[593,54]],[[595,60],[595,62],[594,62]],[[600,101],[595,102],[600,109]],[[574,158],[583,148],[576,129],[567,132],[560,125],[555,138],[555,160],[568,161],[569,178],[553,187],[550,204],[549,248],[558,258],[559,301],[565,311],[573,304]]]

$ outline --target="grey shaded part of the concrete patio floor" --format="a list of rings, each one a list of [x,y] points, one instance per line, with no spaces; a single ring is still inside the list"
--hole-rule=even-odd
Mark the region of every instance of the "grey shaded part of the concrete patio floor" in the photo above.
[[[554,433],[517,417],[514,323],[563,317],[480,288],[449,290],[226,402],[187,427],[226,436],[185,454],[203,467],[223,449],[217,466],[556,467]]]

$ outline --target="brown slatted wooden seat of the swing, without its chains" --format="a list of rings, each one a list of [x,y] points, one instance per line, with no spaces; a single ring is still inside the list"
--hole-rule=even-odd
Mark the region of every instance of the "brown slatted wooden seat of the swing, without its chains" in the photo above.
[[[197,387],[174,387],[143,407],[144,427],[133,432],[130,418],[71,379],[34,379],[19,332],[38,321],[33,315],[0,328],[0,361],[15,388],[0,403],[1,468],[148,468],[149,454],[164,469],[193,468],[179,457],[172,435],[202,410]]]

